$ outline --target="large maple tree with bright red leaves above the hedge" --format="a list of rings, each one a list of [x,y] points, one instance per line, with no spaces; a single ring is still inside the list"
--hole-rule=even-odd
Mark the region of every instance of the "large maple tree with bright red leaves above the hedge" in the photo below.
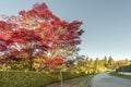
[[[62,60],[62,55],[59,59],[56,57],[63,49],[81,44],[80,36],[84,33],[81,25],[79,21],[69,23],[60,20],[45,3],[36,3],[32,10],[22,10],[16,16],[4,16],[4,21],[0,22],[0,51],[8,50],[8,59],[13,55],[28,60],[31,70],[34,58],[39,54],[46,54],[48,61],[62,64],[59,60]],[[21,53],[26,55],[21,58]]]

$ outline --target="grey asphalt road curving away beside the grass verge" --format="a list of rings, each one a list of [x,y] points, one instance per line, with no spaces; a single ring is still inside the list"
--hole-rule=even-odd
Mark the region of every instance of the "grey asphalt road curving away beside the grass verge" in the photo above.
[[[103,73],[94,76],[88,87],[131,87],[131,80]]]

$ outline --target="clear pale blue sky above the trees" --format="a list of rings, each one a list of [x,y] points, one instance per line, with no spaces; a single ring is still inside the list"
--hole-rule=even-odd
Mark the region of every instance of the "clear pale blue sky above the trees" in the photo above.
[[[3,0],[0,14],[17,14],[36,2],[46,2],[62,20],[84,23],[81,54],[131,59],[131,0]]]

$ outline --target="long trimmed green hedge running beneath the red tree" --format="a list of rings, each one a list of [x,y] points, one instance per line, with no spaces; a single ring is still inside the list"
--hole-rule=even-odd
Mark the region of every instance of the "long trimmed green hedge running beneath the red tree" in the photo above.
[[[62,72],[63,79],[70,79],[85,75],[84,73]],[[0,87],[45,87],[60,82],[59,72],[20,72],[0,71]]]

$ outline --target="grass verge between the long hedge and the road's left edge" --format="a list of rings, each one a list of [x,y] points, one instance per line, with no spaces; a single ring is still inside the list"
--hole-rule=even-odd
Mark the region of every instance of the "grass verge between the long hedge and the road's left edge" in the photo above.
[[[63,82],[63,87],[87,87],[88,82],[94,75],[81,76],[78,78]],[[60,87],[60,83],[49,85],[47,87]]]

